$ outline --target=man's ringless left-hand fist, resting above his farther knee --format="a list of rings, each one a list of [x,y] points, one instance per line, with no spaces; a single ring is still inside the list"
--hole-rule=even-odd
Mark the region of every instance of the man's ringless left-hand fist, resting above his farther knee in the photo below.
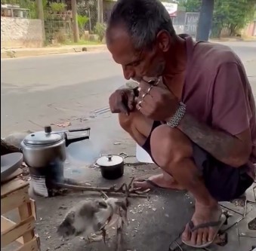
[[[129,115],[135,108],[134,90],[118,89],[109,96],[109,107],[112,113],[125,113]]]

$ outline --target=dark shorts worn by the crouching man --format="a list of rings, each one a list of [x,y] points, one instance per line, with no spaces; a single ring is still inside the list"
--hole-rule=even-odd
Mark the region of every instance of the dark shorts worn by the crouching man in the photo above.
[[[159,121],[154,121],[151,133],[160,124]],[[152,158],[150,149],[151,133],[143,145],[143,149]],[[218,201],[233,200],[241,196],[254,182],[247,173],[248,167],[246,165],[239,168],[230,167],[221,161],[217,161],[195,143],[193,143],[193,158],[196,166],[202,171],[206,188],[208,188],[211,196]]]

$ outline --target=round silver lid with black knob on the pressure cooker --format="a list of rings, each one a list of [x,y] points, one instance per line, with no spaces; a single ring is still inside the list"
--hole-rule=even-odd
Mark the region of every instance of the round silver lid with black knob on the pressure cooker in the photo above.
[[[63,139],[59,133],[51,133],[51,130],[45,127],[45,131],[30,133],[26,138],[23,140],[25,145],[51,145],[56,142],[59,142]]]

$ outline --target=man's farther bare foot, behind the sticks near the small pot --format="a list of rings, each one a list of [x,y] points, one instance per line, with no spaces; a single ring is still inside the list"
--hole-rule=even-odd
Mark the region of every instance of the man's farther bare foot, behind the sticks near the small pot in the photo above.
[[[184,188],[174,180],[174,178],[166,173],[151,176],[149,179],[137,179],[134,181],[135,188],[167,188],[174,190],[184,190]]]

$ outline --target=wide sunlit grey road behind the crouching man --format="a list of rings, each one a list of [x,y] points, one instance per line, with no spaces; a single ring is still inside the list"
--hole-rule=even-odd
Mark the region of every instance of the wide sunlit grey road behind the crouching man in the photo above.
[[[256,42],[226,44],[241,57],[256,93]],[[125,84],[108,52],[1,60],[1,74],[1,136],[83,121],[106,107],[109,93]]]

